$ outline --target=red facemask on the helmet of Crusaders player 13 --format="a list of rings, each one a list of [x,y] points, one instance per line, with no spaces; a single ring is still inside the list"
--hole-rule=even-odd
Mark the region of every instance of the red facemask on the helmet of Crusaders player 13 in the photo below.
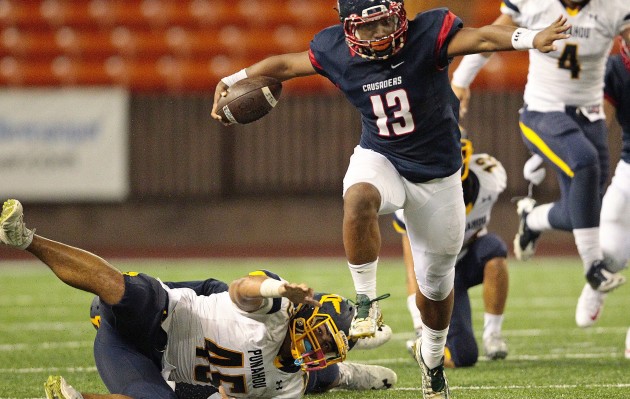
[[[387,2],[386,2],[387,3]],[[389,2],[365,8],[361,15],[351,14],[342,18],[346,42],[353,52],[363,58],[384,60],[396,54],[405,45],[408,21],[402,2]],[[367,37],[378,32],[382,25],[389,32],[382,37]]]

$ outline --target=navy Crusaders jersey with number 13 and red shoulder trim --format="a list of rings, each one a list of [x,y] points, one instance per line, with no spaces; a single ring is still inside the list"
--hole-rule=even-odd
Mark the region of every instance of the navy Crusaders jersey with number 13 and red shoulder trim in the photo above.
[[[451,90],[447,47],[463,26],[446,8],[409,21],[404,47],[386,60],[354,54],[341,24],[310,44],[315,70],[361,112],[360,145],[389,159],[406,179],[450,176],[462,165],[459,101]]]

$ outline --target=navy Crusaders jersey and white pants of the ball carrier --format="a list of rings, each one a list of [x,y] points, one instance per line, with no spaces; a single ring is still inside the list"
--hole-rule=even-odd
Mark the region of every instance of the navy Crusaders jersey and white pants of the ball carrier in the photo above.
[[[462,246],[459,102],[448,77],[448,45],[463,27],[446,8],[409,21],[405,44],[385,60],[348,47],[341,24],[319,32],[309,56],[317,73],[361,112],[361,139],[343,181],[380,193],[379,214],[404,208],[420,291],[441,301],[453,287]]]

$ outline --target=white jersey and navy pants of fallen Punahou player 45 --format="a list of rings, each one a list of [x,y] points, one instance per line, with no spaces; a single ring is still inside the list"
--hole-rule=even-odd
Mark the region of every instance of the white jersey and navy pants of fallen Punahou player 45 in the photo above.
[[[221,281],[164,284],[137,273],[124,278],[120,303],[100,306],[94,341],[96,366],[110,393],[177,399],[169,380],[207,386],[208,395],[223,385],[236,398],[304,394],[307,374],[292,359],[281,363],[277,357],[294,310],[288,299],[267,299],[247,313]]]

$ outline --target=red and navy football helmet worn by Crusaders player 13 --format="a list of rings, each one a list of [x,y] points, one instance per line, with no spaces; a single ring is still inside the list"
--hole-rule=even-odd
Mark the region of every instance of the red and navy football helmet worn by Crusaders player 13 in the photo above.
[[[337,10],[346,43],[361,57],[384,60],[405,45],[408,21],[403,0],[338,0]],[[361,37],[361,33],[366,31],[380,30],[379,26],[384,23],[389,25],[389,34]]]

